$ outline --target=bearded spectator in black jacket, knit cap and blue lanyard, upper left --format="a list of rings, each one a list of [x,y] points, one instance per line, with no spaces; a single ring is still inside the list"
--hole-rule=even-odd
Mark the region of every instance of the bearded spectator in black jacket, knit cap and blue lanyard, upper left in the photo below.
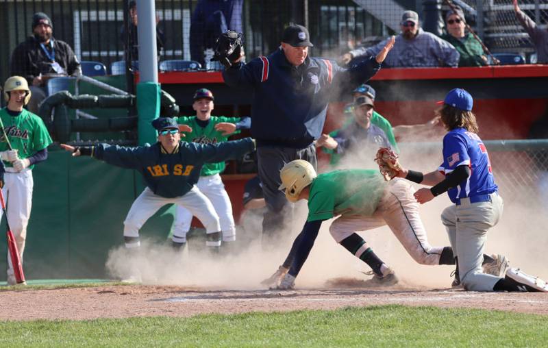
[[[38,105],[46,97],[48,75],[76,76],[82,75],[82,70],[69,44],[53,38],[53,23],[47,14],[36,12],[32,16],[32,32],[33,36],[14,49],[10,75],[27,79],[32,92],[27,109],[36,114]]]

